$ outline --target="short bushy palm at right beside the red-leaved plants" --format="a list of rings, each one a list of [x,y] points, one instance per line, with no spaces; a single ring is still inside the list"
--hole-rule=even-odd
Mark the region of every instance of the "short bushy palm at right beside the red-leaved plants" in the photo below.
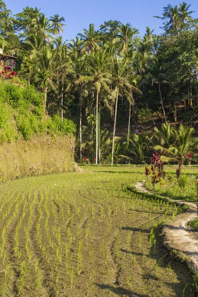
[[[180,125],[178,130],[177,128],[171,130],[171,134],[174,137],[174,143],[170,145],[169,148],[165,148],[162,145],[154,146],[155,149],[159,150],[163,154],[161,155],[162,161],[176,161],[178,163],[178,177],[181,175],[181,166],[187,160],[189,153],[198,146],[198,141],[194,141],[192,137],[194,132],[194,128]]]

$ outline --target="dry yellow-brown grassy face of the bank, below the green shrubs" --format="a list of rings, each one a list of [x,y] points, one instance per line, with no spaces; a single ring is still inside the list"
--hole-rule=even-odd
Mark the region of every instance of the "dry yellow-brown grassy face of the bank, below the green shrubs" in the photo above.
[[[0,181],[75,171],[74,138],[35,136],[0,146]]]

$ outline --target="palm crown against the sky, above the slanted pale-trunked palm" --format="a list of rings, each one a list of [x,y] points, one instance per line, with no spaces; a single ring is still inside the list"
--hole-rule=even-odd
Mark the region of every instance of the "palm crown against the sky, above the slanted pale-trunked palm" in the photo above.
[[[123,51],[127,53],[128,44],[131,42],[132,38],[139,33],[136,28],[132,28],[129,23],[122,24],[122,26],[118,27],[119,34],[113,40],[114,43],[121,41],[122,45],[119,49],[119,52]]]

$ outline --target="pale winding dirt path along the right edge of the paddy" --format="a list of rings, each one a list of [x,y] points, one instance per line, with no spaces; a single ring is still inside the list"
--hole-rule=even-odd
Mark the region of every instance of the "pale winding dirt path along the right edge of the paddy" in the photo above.
[[[149,193],[145,187],[145,182],[142,181],[135,185],[136,189],[141,192]],[[176,248],[181,251],[184,255],[188,257],[188,264],[191,266],[192,270],[198,269],[198,240],[193,238],[191,229],[187,228],[186,225],[189,221],[197,217],[197,206],[195,203],[185,202],[181,200],[173,200],[168,198],[171,202],[177,202],[179,204],[189,205],[189,210],[186,213],[182,213],[177,216],[174,220],[167,223],[163,229],[163,233],[167,239],[170,247]]]

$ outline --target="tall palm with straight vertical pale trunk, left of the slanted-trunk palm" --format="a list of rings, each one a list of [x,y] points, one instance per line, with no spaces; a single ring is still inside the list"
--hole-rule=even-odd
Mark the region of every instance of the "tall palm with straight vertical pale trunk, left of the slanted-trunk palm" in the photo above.
[[[98,111],[99,94],[101,88],[110,93],[107,83],[110,83],[108,72],[109,54],[105,50],[93,51],[88,58],[88,75],[80,78],[76,83],[92,83],[96,90],[96,164],[98,164]]]

